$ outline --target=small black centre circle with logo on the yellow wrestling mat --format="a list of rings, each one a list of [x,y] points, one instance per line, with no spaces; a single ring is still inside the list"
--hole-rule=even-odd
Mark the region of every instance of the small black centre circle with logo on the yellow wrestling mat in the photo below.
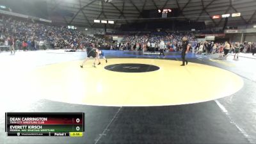
[[[120,63],[108,65],[104,68],[114,72],[153,72],[159,70],[159,67],[156,65],[147,65],[141,63]]]

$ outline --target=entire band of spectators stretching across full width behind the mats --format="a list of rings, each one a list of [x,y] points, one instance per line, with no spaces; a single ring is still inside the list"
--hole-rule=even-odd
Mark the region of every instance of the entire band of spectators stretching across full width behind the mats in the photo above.
[[[198,42],[190,32],[182,31],[156,31],[152,33],[137,33],[125,35],[120,42],[104,40],[95,36],[88,36],[77,31],[68,29],[67,26],[54,26],[48,23],[36,22],[34,20],[19,19],[6,15],[0,15],[0,46],[13,44],[15,49],[83,49],[84,47],[105,47],[105,49],[126,51],[154,51],[159,50],[160,42],[163,40],[164,47],[168,51],[179,51],[182,47],[182,37],[186,36],[191,44],[191,51],[197,54],[213,54],[225,51],[255,53],[255,43],[244,44],[218,44],[213,42]],[[48,45],[48,47],[47,47]],[[229,45],[229,46],[228,46]],[[220,56],[222,56],[220,54]]]

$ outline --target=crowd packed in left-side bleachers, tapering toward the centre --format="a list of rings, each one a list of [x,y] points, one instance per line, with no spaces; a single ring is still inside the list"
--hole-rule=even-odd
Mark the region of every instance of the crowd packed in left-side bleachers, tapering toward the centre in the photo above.
[[[0,45],[8,45],[14,39],[16,49],[38,49],[48,45],[55,49],[79,49],[81,45],[104,43],[102,38],[83,35],[76,29],[66,26],[52,26],[33,20],[18,19],[17,17],[0,18]]]

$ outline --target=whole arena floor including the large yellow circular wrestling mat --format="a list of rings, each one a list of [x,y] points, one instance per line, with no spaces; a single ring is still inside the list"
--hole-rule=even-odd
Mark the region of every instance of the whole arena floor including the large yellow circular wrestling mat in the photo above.
[[[256,143],[256,56],[105,55],[80,68],[86,52],[1,52],[0,143]],[[4,112],[84,112],[85,133],[7,137]]]

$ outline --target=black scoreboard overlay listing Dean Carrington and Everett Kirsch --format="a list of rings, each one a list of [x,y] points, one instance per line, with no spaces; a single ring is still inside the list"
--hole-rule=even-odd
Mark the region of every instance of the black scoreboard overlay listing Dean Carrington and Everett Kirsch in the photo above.
[[[83,136],[84,113],[5,113],[7,136]]]

